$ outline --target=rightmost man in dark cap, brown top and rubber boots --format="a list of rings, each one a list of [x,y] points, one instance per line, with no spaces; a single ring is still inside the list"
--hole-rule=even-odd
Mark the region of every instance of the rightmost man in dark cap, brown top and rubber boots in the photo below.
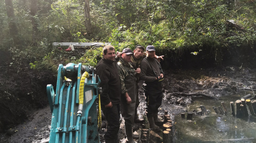
[[[162,81],[164,73],[161,65],[155,59],[155,47],[148,45],[146,48],[147,56],[140,63],[140,79],[144,80],[143,88],[147,102],[147,119],[149,126],[154,131],[160,131],[155,123],[158,121],[158,108],[162,104],[163,92]]]

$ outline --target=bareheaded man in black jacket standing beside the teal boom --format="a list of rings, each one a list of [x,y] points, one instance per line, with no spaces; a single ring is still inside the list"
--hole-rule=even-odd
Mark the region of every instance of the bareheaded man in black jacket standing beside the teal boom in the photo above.
[[[122,53],[117,52],[111,45],[103,47],[103,58],[96,66],[96,74],[100,77],[102,87],[101,110],[108,122],[108,129],[104,135],[106,143],[119,143],[118,131],[120,127],[120,95],[121,84],[118,75],[117,61]]]

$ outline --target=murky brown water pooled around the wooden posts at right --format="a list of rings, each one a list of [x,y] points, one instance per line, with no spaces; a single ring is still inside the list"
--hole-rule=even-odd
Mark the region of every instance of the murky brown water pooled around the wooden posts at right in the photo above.
[[[252,94],[253,92],[246,92]],[[248,118],[239,119],[232,117],[230,101],[235,103],[245,95],[241,92],[234,96],[220,97],[221,99],[212,100],[207,98],[193,99],[193,103],[188,106],[188,111],[193,109],[201,111],[203,105],[210,110],[208,115],[193,115],[192,120],[181,119],[181,115],[175,117],[174,123],[174,142],[181,143],[223,143],[223,142],[243,142],[255,143],[256,141],[256,117],[250,115]],[[221,106],[225,102],[227,107],[227,116],[225,114],[216,114],[213,106]],[[221,106],[222,107],[222,106]],[[247,107],[248,108],[248,107]],[[223,108],[222,108],[223,109]],[[248,109],[249,112],[249,109]],[[185,114],[186,117],[187,114]],[[176,130],[176,131],[175,131]]]

